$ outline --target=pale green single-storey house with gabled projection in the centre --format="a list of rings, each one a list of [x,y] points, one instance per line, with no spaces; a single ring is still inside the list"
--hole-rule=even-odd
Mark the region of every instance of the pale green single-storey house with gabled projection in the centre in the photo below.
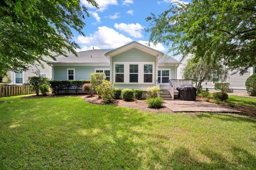
[[[93,72],[105,72],[115,87],[170,87],[169,79],[177,79],[179,61],[138,42],[131,42],[114,50],[89,50],[70,54],[52,61],[53,80],[90,79]],[[170,95],[170,93],[168,94]],[[173,97],[173,96],[172,96]]]

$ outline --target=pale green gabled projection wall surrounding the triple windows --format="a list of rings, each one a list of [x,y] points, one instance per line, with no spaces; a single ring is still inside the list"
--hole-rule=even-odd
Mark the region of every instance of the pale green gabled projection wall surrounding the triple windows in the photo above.
[[[114,75],[114,72],[115,72],[115,62],[124,62],[124,63],[141,63],[141,62],[153,62],[154,63],[154,70],[153,70],[153,83],[143,83],[143,84],[139,84],[139,83],[133,83],[133,84],[130,84],[130,83],[114,83],[114,85],[118,88],[141,88],[142,90],[146,90],[146,88],[148,86],[154,86],[155,85],[155,82],[156,82],[156,78],[157,78],[157,57],[154,56],[154,55],[151,55],[149,53],[146,53],[146,52],[143,52],[141,50],[138,50],[137,48],[132,48],[130,50],[127,50],[125,52],[122,52],[120,54],[117,54],[115,56],[111,56],[111,70],[110,70],[110,74],[111,74],[111,82],[115,82],[114,81],[114,78],[115,78],[115,75]],[[140,72],[143,71],[143,70],[140,70],[139,68],[139,76],[140,75]],[[129,74],[129,70],[128,69],[125,69],[124,70],[124,76]]]

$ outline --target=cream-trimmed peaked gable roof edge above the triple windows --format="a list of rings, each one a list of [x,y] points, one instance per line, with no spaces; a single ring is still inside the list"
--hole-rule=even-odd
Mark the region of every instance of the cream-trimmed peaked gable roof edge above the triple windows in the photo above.
[[[148,47],[146,45],[143,45],[143,44],[140,44],[138,42],[131,42],[131,43],[128,43],[128,44],[125,44],[121,47],[118,47],[118,48],[115,48],[114,50],[111,50],[109,52],[106,53],[106,55],[116,55],[116,54],[119,54],[119,53],[122,53],[126,50],[130,50],[131,48],[138,48],[139,50],[142,50],[142,51],[145,51],[147,53],[151,52],[155,55],[164,55],[164,53],[160,52],[160,51],[157,51],[151,47]]]

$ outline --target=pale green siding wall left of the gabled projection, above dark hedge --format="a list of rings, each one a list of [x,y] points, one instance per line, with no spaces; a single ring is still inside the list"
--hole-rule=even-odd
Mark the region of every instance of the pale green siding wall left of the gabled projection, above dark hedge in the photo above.
[[[75,69],[76,80],[88,80],[95,68],[110,68],[109,66],[53,66],[53,80],[67,80],[67,69]]]

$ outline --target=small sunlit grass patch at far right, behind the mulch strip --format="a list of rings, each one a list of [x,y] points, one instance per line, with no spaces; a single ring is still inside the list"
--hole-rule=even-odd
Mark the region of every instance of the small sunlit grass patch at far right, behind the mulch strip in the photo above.
[[[256,109],[256,105],[252,104],[252,102],[256,102],[256,98],[246,98],[243,96],[229,95],[227,101],[237,103],[237,104],[242,104],[245,106],[250,106]]]

